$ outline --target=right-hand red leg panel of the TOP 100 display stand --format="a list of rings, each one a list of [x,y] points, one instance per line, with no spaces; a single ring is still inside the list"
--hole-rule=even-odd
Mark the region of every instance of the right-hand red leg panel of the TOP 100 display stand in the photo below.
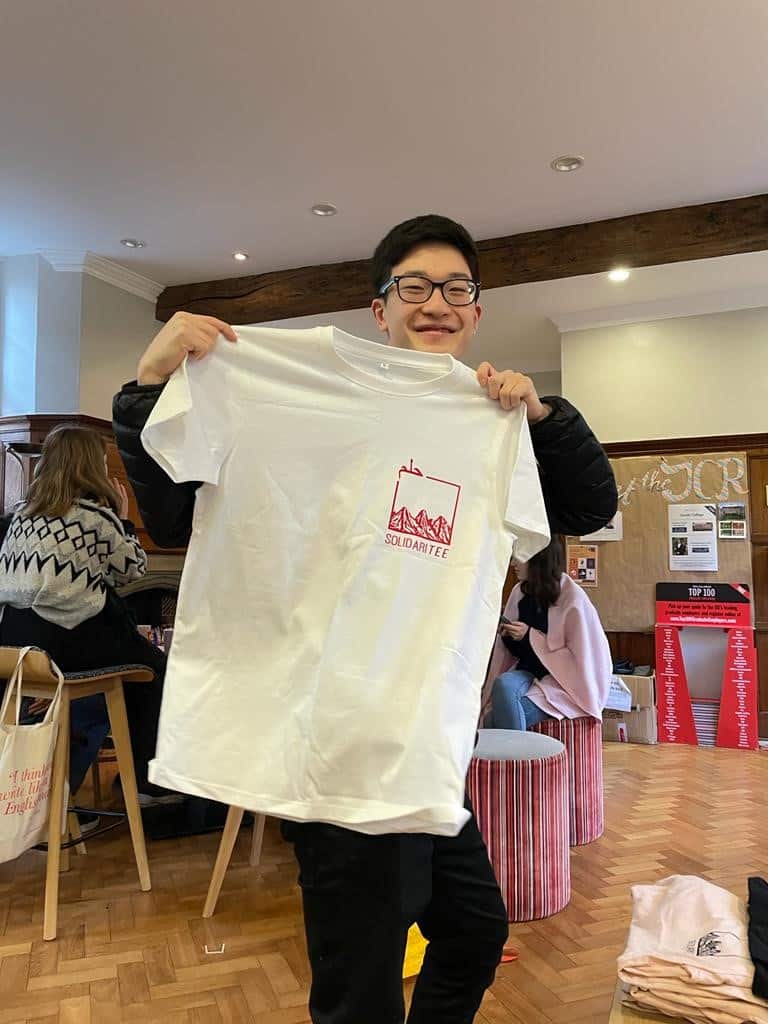
[[[752,630],[728,630],[718,746],[758,749],[758,665]]]

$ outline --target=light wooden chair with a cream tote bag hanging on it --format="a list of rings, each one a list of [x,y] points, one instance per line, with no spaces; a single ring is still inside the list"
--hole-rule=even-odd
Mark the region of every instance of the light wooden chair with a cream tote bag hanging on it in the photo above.
[[[8,679],[18,657],[17,647],[0,647],[0,679]],[[136,774],[133,768],[128,718],[125,713],[123,683],[148,683],[153,673],[143,666],[122,665],[91,672],[65,674],[56,745],[53,755],[53,777],[49,797],[48,854],[45,870],[45,910],[43,938],[55,939],[58,918],[58,873],[61,863],[61,820],[63,817],[65,780],[70,761],[70,702],[77,697],[103,693],[115,740],[118,769],[123,785],[125,809],[133,843],[133,854],[143,892],[152,888],[146,859],[144,830],[141,824]],[[23,692],[25,696],[51,697],[58,686],[50,668],[50,658],[43,650],[33,650],[25,658]],[[71,825],[72,828],[72,825]],[[78,838],[76,835],[74,838]]]

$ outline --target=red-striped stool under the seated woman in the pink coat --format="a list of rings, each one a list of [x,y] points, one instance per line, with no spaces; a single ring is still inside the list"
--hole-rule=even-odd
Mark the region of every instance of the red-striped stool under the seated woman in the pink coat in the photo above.
[[[596,718],[562,718],[540,722],[532,731],[553,736],[568,755],[570,845],[599,839],[605,827],[603,810],[603,735]]]

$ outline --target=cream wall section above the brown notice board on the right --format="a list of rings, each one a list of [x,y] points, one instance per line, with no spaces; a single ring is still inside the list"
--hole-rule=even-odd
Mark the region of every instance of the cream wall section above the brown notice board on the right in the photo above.
[[[768,431],[768,308],[571,331],[561,357],[602,441]]]

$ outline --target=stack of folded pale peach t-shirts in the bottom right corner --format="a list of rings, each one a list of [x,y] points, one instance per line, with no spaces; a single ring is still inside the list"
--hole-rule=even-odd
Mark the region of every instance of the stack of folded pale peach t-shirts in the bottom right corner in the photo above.
[[[768,1002],[752,994],[743,900],[687,874],[633,886],[632,898],[618,957],[629,1005],[694,1024],[768,1024]]]

